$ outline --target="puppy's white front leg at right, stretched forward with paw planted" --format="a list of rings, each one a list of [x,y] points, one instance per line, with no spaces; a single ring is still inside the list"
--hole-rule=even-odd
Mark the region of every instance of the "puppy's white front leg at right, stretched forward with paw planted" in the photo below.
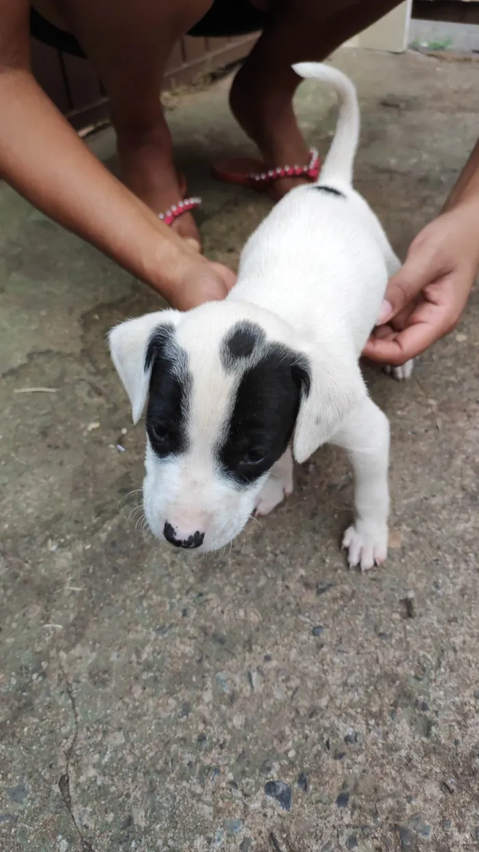
[[[347,418],[331,443],[347,450],[355,474],[355,522],[343,538],[349,566],[367,571],[387,556],[389,421],[370,399]]]

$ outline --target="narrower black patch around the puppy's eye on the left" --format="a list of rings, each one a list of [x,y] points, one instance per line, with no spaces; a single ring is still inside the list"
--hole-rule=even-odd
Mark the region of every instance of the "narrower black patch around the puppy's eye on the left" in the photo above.
[[[145,370],[151,369],[146,432],[159,458],[185,452],[191,396],[188,356],[174,340],[174,325],[158,326],[146,349]]]

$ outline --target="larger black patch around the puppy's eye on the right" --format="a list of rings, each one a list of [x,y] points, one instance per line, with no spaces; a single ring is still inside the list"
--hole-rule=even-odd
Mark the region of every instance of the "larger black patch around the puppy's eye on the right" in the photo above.
[[[223,439],[220,468],[239,486],[264,475],[285,452],[298,416],[301,394],[309,394],[307,360],[271,343],[242,374]]]

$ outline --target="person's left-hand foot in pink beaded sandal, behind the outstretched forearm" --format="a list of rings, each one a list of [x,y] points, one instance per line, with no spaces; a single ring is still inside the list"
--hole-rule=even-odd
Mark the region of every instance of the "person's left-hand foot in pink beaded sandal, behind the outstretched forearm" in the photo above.
[[[149,134],[117,131],[118,157],[123,182],[155,213],[164,213],[185,197],[184,176],[174,168],[171,138],[166,122]],[[179,216],[170,226],[191,248],[201,250],[200,234],[191,213]]]

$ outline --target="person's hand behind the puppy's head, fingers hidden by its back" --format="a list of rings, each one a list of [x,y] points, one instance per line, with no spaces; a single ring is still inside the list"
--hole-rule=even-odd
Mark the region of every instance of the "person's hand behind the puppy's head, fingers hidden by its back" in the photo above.
[[[168,302],[173,308],[188,311],[203,302],[219,301],[228,295],[236,279],[235,273],[222,263],[198,255],[181,273]]]

